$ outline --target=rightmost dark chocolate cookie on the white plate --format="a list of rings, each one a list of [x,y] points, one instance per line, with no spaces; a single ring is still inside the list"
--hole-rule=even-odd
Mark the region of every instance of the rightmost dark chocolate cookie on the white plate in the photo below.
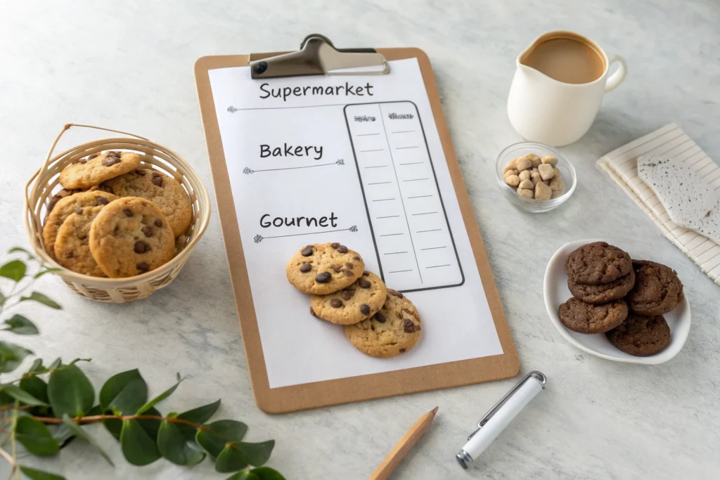
[[[683,283],[672,268],[647,260],[634,260],[635,286],[627,296],[630,309],[642,315],[662,315],[683,299]]]

